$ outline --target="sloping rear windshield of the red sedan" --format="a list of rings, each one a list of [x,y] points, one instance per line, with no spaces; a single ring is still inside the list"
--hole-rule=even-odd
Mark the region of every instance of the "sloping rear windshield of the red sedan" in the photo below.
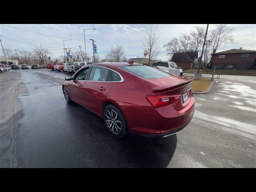
[[[120,68],[144,79],[157,79],[171,76],[171,74],[146,65],[121,66]]]

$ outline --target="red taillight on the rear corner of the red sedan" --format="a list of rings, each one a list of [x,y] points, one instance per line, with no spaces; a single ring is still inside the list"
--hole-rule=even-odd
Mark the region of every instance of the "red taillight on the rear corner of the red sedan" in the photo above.
[[[158,96],[158,95],[146,95],[146,99],[154,107],[162,107],[172,103],[176,103],[180,100],[181,95],[172,96]]]

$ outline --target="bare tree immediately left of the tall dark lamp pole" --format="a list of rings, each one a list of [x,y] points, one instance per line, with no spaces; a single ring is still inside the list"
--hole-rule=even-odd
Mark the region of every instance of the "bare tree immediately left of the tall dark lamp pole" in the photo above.
[[[198,51],[204,44],[204,27],[196,26],[196,31],[190,32],[190,48],[192,51]]]

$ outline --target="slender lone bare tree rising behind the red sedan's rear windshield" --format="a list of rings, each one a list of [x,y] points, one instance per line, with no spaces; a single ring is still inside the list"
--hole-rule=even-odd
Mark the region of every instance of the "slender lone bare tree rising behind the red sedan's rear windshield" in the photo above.
[[[148,25],[146,28],[146,36],[142,42],[144,50],[148,51],[148,65],[156,60],[160,53],[161,49],[159,48],[158,38],[157,26],[153,26],[153,24]]]

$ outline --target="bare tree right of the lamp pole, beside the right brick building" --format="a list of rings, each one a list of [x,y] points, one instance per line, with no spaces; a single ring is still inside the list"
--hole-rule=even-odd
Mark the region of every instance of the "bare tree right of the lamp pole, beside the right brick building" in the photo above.
[[[215,52],[221,44],[234,42],[234,36],[232,35],[234,29],[235,28],[228,27],[227,24],[217,24],[215,28],[210,31],[210,35],[213,40],[213,49]]]

